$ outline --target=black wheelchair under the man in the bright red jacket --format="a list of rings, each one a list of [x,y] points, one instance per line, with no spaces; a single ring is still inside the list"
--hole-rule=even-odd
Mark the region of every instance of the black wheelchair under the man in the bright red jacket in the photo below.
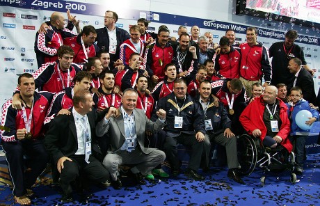
[[[262,168],[264,173],[260,178],[260,184],[263,187],[267,172],[280,173],[289,170],[290,182],[296,183],[294,152],[289,153],[282,145],[266,148],[259,138],[242,134],[237,139],[237,149],[241,175],[250,175],[257,166]]]

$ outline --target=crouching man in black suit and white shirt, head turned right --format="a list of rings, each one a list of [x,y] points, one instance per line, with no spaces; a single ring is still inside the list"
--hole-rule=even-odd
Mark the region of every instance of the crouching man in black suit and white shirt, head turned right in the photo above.
[[[94,157],[101,151],[95,139],[93,98],[88,90],[78,90],[72,101],[71,114],[54,118],[45,137],[45,147],[60,173],[64,203],[72,201],[71,185],[79,184],[80,174],[95,182],[109,179],[106,168]]]

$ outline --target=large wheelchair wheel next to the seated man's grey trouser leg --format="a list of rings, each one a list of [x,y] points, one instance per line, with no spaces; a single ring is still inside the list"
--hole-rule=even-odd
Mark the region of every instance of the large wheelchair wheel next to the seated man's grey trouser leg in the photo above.
[[[257,164],[257,147],[253,138],[247,134],[237,139],[238,161],[241,175],[250,175]]]

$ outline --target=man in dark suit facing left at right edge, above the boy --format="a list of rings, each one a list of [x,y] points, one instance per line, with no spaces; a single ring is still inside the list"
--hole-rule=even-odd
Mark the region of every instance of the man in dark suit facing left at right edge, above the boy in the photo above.
[[[302,66],[300,58],[291,58],[289,61],[288,69],[289,72],[294,74],[294,82],[288,86],[288,91],[294,87],[298,86],[302,90],[303,99],[307,100],[309,103],[319,106],[317,102],[317,96],[314,92],[314,81],[310,72],[308,72]]]

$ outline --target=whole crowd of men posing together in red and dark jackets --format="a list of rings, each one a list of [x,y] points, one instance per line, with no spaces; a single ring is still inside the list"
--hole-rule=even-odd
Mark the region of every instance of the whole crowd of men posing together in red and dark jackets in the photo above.
[[[79,21],[67,15],[74,24],[68,29],[61,13],[42,25],[45,32],[35,40],[39,69],[19,77],[13,99],[2,108],[1,125],[10,131],[1,131],[1,144],[21,205],[31,204],[31,186],[48,162],[63,202],[70,202],[72,187],[85,185],[83,177],[121,189],[119,167],[126,164],[138,184],[168,177],[161,167],[154,170],[165,159],[171,174],[179,175],[179,143],[191,149],[187,176],[205,179],[198,169],[208,171],[211,144],[218,144],[226,150],[227,176],[243,184],[236,135],[246,131],[291,152],[286,96],[271,84],[301,86],[303,97],[318,105],[303,50],[294,44],[296,31],[268,53],[254,27],[237,47],[232,30],[219,45],[209,32],[199,36],[198,26],[191,36],[180,26],[177,42],[169,41],[167,26],[147,33],[145,19],[128,33],[115,26],[118,15],[110,10],[103,28],[84,26],[77,35],[70,29],[79,31]]]

